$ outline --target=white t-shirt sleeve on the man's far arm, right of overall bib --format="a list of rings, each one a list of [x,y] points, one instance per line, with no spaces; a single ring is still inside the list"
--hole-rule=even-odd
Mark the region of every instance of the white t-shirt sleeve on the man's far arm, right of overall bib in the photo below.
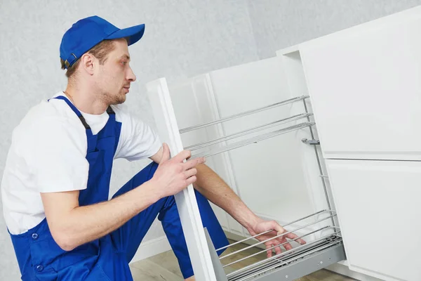
[[[121,108],[121,107],[120,107]],[[115,158],[135,161],[151,157],[161,148],[159,136],[142,120],[122,110],[116,111],[121,119],[121,133]]]

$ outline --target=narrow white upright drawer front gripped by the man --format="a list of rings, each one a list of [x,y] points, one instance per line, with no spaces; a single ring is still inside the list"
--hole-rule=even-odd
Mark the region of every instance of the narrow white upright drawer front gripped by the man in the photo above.
[[[166,79],[151,81],[146,86],[159,138],[168,144],[173,157],[183,150],[183,145]],[[175,202],[196,280],[215,281],[215,271],[210,260],[210,252],[193,186],[189,185],[185,190],[176,194]]]

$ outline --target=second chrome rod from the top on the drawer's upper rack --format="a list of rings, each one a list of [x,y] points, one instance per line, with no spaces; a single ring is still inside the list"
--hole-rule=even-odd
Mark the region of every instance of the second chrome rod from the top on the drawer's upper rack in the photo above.
[[[269,128],[272,128],[274,126],[278,126],[280,124],[285,124],[285,123],[288,123],[288,122],[293,122],[293,121],[298,120],[298,119],[306,118],[306,117],[308,117],[310,115],[312,115],[312,114],[311,113],[303,113],[303,114],[300,114],[300,115],[294,115],[292,117],[288,117],[288,118],[285,118],[285,119],[277,120],[277,121],[270,122],[270,123],[267,123],[267,124],[264,124],[264,125],[255,126],[252,129],[247,129],[247,130],[244,130],[244,131],[239,131],[239,132],[233,133],[233,134],[231,134],[229,136],[224,136],[222,138],[215,138],[212,141],[205,141],[203,143],[198,143],[196,145],[190,145],[190,146],[187,146],[187,148],[185,148],[185,149],[186,150],[198,150],[200,148],[205,148],[208,145],[214,145],[216,143],[222,143],[223,141],[229,141],[229,140],[232,140],[233,138],[238,138],[240,136],[245,136],[248,133],[254,133],[256,131],[262,131],[264,129],[269,129]]]

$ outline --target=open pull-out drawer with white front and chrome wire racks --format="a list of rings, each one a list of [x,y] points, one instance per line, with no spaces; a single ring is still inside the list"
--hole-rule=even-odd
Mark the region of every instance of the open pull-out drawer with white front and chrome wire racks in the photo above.
[[[286,208],[284,216],[302,216],[301,218],[290,220],[285,222],[279,222],[286,229],[288,232],[292,232],[297,234],[300,238],[305,240],[307,244],[300,245],[298,242],[290,241],[290,244],[293,245],[293,249],[288,251],[284,251],[281,254],[276,254],[268,259],[260,260],[256,263],[252,263],[248,266],[240,268],[239,270],[235,270],[234,272],[227,272],[227,266],[233,265],[234,263],[238,263],[237,261],[229,261],[233,258],[233,254],[237,254],[245,249],[239,250],[237,252],[231,254],[224,254],[220,257],[216,256],[216,251],[213,248],[213,244],[210,240],[206,241],[206,232],[201,228],[201,218],[199,216],[199,210],[197,208],[196,199],[192,196],[192,186],[190,185],[186,190],[180,192],[179,194],[175,195],[175,200],[178,204],[178,209],[180,212],[180,218],[182,221],[183,229],[185,229],[186,233],[186,241],[187,247],[189,248],[189,253],[192,258],[192,264],[194,266],[194,271],[196,275],[196,280],[274,280],[273,278],[278,278],[283,276],[285,280],[293,280],[294,278],[302,277],[309,273],[312,273],[315,270],[319,270],[321,268],[325,268],[330,266],[333,263],[338,261],[344,260],[345,257],[345,250],[342,245],[342,237],[340,235],[340,228],[335,224],[335,218],[337,216],[336,211],[330,209],[330,205],[328,204],[328,195],[327,189],[325,185],[321,183],[324,181],[323,177],[321,176],[321,167],[319,162],[319,157],[316,157],[316,150],[314,150],[314,145],[309,145],[307,143],[303,143],[301,137],[298,136],[305,136],[306,138],[313,138],[313,127],[314,122],[311,122],[310,117],[312,116],[305,105],[305,100],[308,98],[307,96],[300,96],[295,98],[290,98],[288,100],[281,100],[277,103],[272,105],[266,105],[264,107],[258,107],[253,110],[248,110],[246,112],[240,112],[236,115],[222,117],[220,119],[206,122],[205,124],[200,124],[196,126],[191,126],[189,128],[179,129],[178,128],[178,120],[175,118],[175,112],[182,112],[180,110],[174,110],[173,103],[171,102],[171,96],[168,90],[168,86],[166,85],[165,79],[159,79],[157,81],[153,81],[148,84],[149,89],[149,100],[153,105],[154,115],[156,117],[156,124],[159,128],[159,133],[161,136],[161,140],[165,141],[170,144],[171,152],[173,155],[175,153],[180,152],[182,150],[182,141],[180,137],[180,133],[185,133],[188,131],[194,131],[197,129],[202,129],[208,126],[213,126],[215,124],[220,124],[222,122],[227,122],[228,120],[236,119],[239,117],[246,117],[249,115],[254,115],[257,112],[264,112],[266,110],[272,108],[282,107],[284,112],[290,112],[292,116],[284,117],[282,119],[276,119],[275,123],[269,122],[264,124],[250,124],[248,126],[251,128],[239,128],[237,132],[230,132],[228,134],[224,134],[223,136],[218,136],[213,140],[206,140],[202,139],[199,144],[190,145],[192,150],[199,146],[205,148],[203,151],[199,151],[193,154],[193,157],[205,156],[205,157],[212,157],[214,155],[220,155],[223,152],[228,152],[232,150],[239,151],[241,148],[248,146],[248,145],[255,145],[255,143],[260,143],[261,145],[266,145],[260,148],[266,148],[266,150],[262,150],[263,152],[267,152],[270,154],[270,157],[276,158],[276,151],[280,150],[279,147],[289,148],[288,156],[290,157],[280,157],[283,162],[290,162],[291,157],[297,157],[298,159],[302,159],[302,161],[306,162],[303,163],[303,166],[307,166],[305,172],[302,171],[302,166],[297,165],[298,167],[293,170],[291,175],[285,174],[283,178],[275,179],[272,181],[262,181],[259,186],[259,190],[252,190],[253,186],[248,188],[251,192],[259,191],[261,195],[274,195],[274,202],[272,203],[273,206],[277,204],[281,204],[281,200],[276,200],[276,197],[281,197],[282,193],[288,194],[288,196],[284,196],[284,200],[295,200],[295,202],[302,202],[302,200],[308,200],[312,198],[314,201],[319,202],[312,202],[312,200],[308,200],[308,205],[306,214],[300,214],[298,211],[303,211],[301,205],[299,204],[289,204],[286,206],[282,206]],[[185,93],[183,91],[182,93]],[[289,105],[297,103],[300,105],[302,112],[298,115],[293,113],[293,110],[290,110],[288,107]],[[298,108],[297,108],[298,109]],[[192,113],[191,110],[184,111],[184,115],[190,115]],[[202,112],[203,113],[203,112]],[[180,116],[180,115],[179,115]],[[179,120],[181,120],[179,118]],[[292,123],[292,124],[291,124]],[[273,125],[276,126],[273,126]],[[246,130],[245,130],[246,129]],[[260,130],[262,129],[261,133]],[[211,132],[211,131],[210,131]],[[255,133],[258,133],[255,135]],[[297,133],[297,135],[292,135],[293,137],[290,139],[282,138],[283,135],[291,136],[291,134]],[[251,134],[251,135],[250,135]],[[203,138],[204,134],[196,136],[197,138]],[[277,137],[278,143],[271,143],[269,139],[274,139]],[[238,139],[239,138],[239,139]],[[289,141],[286,141],[289,140]],[[294,142],[295,141],[295,142]],[[313,140],[315,141],[315,140]],[[220,144],[222,143],[222,144]],[[291,144],[292,143],[292,144]],[[317,142],[316,142],[317,143]],[[214,144],[218,144],[217,146],[213,147]],[[219,145],[220,144],[220,145]],[[269,145],[268,145],[269,144]],[[208,145],[212,145],[208,147]],[[303,150],[303,151],[300,151]],[[295,152],[295,153],[294,153]],[[308,153],[307,153],[308,152]],[[243,151],[244,153],[244,151]],[[310,157],[310,154],[312,157]],[[282,155],[282,154],[281,154]],[[286,155],[286,152],[283,154]],[[253,157],[241,157],[241,155],[236,155],[238,158],[234,157],[233,159],[243,159],[241,161],[233,161],[234,167],[241,166],[241,164],[253,164]],[[246,156],[246,155],[244,155]],[[246,160],[244,160],[246,159]],[[311,160],[307,160],[311,159]],[[269,161],[269,157],[265,158],[265,161]],[[309,163],[307,163],[307,161]],[[218,166],[218,165],[217,165]],[[316,169],[312,170],[309,169],[310,166],[315,166]],[[269,166],[267,169],[266,176],[269,174],[275,174],[278,169],[274,168],[276,165],[272,167]],[[247,171],[247,170],[245,170]],[[311,173],[312,175],[308,175],[307,172],[314,171]],[[236,176],[246,176],[246,178],[250,178],[253,174],[250,173],[236,173]],[[254,175],[255,176],[255,175]],[[318,194],[314,195],[311,190],[312,188],[308,188],[305,184],[297,184],[291,183],[291,185],[274,185],[274,183],[281,183],[282,181],[286,181],[286,179],[292,179],[294,176],[299,176],[300,178],[308,177],[309,181],[312,182],[311,187],[320,186],[317,188]],[[249,179],[250,181],[250,179]],[[241,183],[244,184],[244,181]],[[319,184],[317,184],[319,183]],[[295,195],[293,192],[288,191],[296,191],[294,189],[302,188],[302,192],[298,195]],[[245,190],[245,191],[247,191]],[[306,192],[308,197],[306,197]],[[316,190],[314,190],[316,192]],[[295,195],[295,196],[294,196]],[[314,195],[314,196],[309,196]],[[323,199],[316,200],[319,196],[323,197]],[[251,204],[253,209],[258,209],[262,207],[262,204],[265,204],[264,200],[261,200],[258,195],[255,196],[255,200],[259,204]],[[310,205],[311,204],[311,205]],[[322,209],[321,211],[316,211],[314,214],[313,211],[310,212],[311,209],[315,209],[319,206],[319,204],[327,205],[326,209]],[[297,206],[298,207],[297,207]],[[288,208],[289,207],[289,212]],[[295,209],[298,211],[295,211]],[[268,208],[271,211],[271,208]],[[274,209],[274,208],[272,208]],[[274,212],[277,214],[278,212]],[[309,215],[310,214],[310,215]],[[272,230],[268,230],[270,232]],[[266,233],[267,233],[266,232]],[[260,233],[262,235],[265,233]],[[286,235],[286,233],[282,233],[281,235]],[[279,236],[281,236],[279,235]],[[246,238],[246,240],[253,241],[255,237]],[[272,240],[273,238],[269,239]],[[262,246],[263,243],[267,242],[255,242],[252,243],[250,247],[258,247]],[[245,242],[245,241],[241,241]],[[230,245],[232,246],[232,245]],[[229,247],[230,247],[229,246]],[[276,244],[272,246],[271,249],[275,247],[283,247],[283,244]],[[220,249],[217,249],[220,250]],[[266,249],[261,249],[260,254],[264,254]],[[251,256],[243,256],[241,261],[249,259]],[[223,263],[221,263],[223,261]],[[227,263],[227,261],[229,261]],[[224,267],[222,266],[224,264]],[[215,276],[215,277],[214,277]],[[216,278],[216,279],[215,279]],[[268,279],[269,278],[269,279]]]

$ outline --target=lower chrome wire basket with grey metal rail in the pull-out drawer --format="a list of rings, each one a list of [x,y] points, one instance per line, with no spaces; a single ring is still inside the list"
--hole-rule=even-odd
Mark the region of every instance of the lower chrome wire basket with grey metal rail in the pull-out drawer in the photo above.
[[[317,216],[317,221],[326,221],[328,218],[335,216],[335,211],[319,211],[316,214],[307,216],[298,221],[288,223],[286,226],[290,228],[293,223],[302,223],[308,218]],[[313,226],[315,223],[309,223],[307,226]],[[289,230],[288,232],[302,231],[302,228]],[[255,243],[253,246],[246,247],[230,254],[224,254],[221,257],[216,255],[215,248],[213,247],[212,240],[206,232],[206,237],[209,245],[210,254],[212,257],[213,268],[215,269],[216,278],[218,281],[272,281],[272,280],[295,280],[302,276],[313,273],[314,271],[326,268],[327,266],[343,261],[346,259],[345,250],[342,244],[342,237],[340,237],[340,230],[334,226],[324,226],[318,230],[301,234],[302,239],[309,237],[307,244],[299,245],[291,250],[285,251],[281,254],[276,254],[270,258],[262,259],[247,266],[243,266],[233,272],[227,273],[227,266],[232,266],[236,263],[246,261],[253,256],[265,253],[265,249],[243,256],[243,258],[226,262],[226,259],[231,259],[233,254],[238,254],[241,251],[247,250],[250,247],[260,244]],[[240,242],[245,242],[242,240]],[[237,244],[236,242],[234,244]],[[233,246],[231,244],[230,246]],[[218,249],[217,249],[218,250]]]

